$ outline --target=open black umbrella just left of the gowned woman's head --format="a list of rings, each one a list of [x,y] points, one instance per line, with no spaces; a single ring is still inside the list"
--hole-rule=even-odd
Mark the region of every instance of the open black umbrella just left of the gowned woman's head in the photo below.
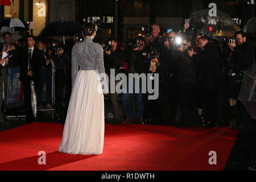
[[[77,22],[60,20],[49,23],[39,34],[39,36],[68,36],[75,35],[81,31],[81,26]]]

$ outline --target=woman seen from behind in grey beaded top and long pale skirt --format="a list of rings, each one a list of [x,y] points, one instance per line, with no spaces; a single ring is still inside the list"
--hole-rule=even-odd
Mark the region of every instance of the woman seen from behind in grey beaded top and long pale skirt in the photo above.
[[[72,49],[72,94],[59,152],[98,155],[104,145],[103,94],[108,93],[108,87],[103,49],[92,42],[97,26],[86,23],[83,28],[84,42],[75,44]],[[102,82],[99,74],[104,75]]]

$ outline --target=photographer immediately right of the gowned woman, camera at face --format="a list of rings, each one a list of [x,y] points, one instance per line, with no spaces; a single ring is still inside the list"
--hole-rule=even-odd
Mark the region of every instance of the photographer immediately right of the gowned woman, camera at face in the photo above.
[[[113,38],[110,38],[108,41],[102,43],[102,47],[104,49],[104,63],[105,63],[105,71],[110,77],[116,76],[119,72],[124,72],[124,64],[125,64],[125,55],[122,49],[117,47],[117,42]],[[110,75],[110,69],[115,69],[115,75]],[[117,85],[118,80],[115,80],[115,85]],[[109,81],[110,84],[110,81]],[[109,85],[110,88],[110,85]],[[119,123],[119,106],[117,101],[117,93],[114,90],[114,93],[109,94],[110,100],[112,102],[112,106],[114,109],[114,124],[117,125]]]

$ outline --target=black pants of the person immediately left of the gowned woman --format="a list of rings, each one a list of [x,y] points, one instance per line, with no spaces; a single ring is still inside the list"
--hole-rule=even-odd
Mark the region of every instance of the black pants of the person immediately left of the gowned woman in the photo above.
[[[63,92],[66,86],[66,107],[64,108],[61,103],[64,101]],[[71,75],[64,73],[61,70],[55,72],[55,112],[61,115],[61,120],[65,119],[69,99],[71,97]]]

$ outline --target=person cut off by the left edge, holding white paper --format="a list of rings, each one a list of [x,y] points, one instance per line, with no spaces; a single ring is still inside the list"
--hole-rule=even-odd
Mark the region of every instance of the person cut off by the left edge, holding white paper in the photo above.
[[[4,122],[4,115],[2,112],[2,104],[3,104],[3,83],[7,80],[7,72],[6,72],[6,67],[5,65],[8,63],[9,59],[3,59],[2,58],[2,53],[0,53],[0,127],[5,126]],[[5,63],[5,64],[3,64]]]

